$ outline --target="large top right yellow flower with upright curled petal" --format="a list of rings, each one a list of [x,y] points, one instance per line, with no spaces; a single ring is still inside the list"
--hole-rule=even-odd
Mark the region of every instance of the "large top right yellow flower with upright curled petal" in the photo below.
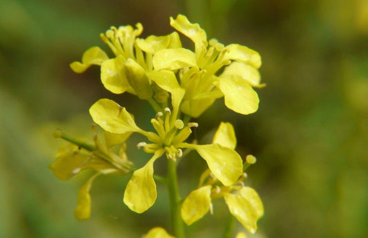
[[[207,41],[206,32],[183,15],[171,17],[171,26],[195,43],[195,52],[184,48],[163,48],[153,55],[155,70],[180,70],[180,86],[185,89],[182,112],[199,117],[215,99],[243,115],[258,109],[258,95],[252,87],[262,87],[258,52],[217,40]],[[219,75],[218,72],[223,72]]]

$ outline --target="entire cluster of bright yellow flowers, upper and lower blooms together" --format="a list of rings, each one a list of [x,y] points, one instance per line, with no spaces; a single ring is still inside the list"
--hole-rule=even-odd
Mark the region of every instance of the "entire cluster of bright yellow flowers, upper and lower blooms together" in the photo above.
[[[91,146],[57,132],[58,137],[72,144],[59,152],[50,168],[60,179],[69,179],[84,168],[97,171],[79,191],[76,210],[79,219],[90,216],[89,190],[93,179],[113,172],[120,175],[133,172],[124,192],[124,203],[142,213],[153,206],[157,197],[153,163],[164,155],[168,161],[177,163],[185,150],[196,150],[209,170],[202,175],[199,188],[182,203],[182,219],[188,225],[193,224],[211,210],[211,199],[224,197],[231,214],[246,229],[255,232],[256,221],[263,214],[262,202],[255,190],[243,184],[243,161],[235,151],[233,126],[221,123],[211,144],[198,145],[186,140],[192,128],[198,126],[190,122],[191,118],[202,115],[216,99],[224,97],[226,107],[242,115],[258,110],[259,99],[253,88],[264,86],[258,72],[260,55],[246,46],[224,46],[216,39],[208,41],[206,32],[183,15],[171,18],[170,23],[193,41],[194,50],[182,47],[178,32],[138,38],[143,28],[137,23],[135,28],[112,27],[100,35],[114,57],[109,58],[95,46],[84,53],[81,62],[70,64],[77,73],[92,65],[100,66],[101,82],[107,90],[115,94],[129,92],[151,103],[156,113],[151,119],[154,131],[137,126],[133,115],[115,101],[99,99],[89,112],[104,130],[106,143],[100,143],[96,136],[95,145]],[[132,133],[145,138],[137,148],[153,154],[146,165],[136,170],[125,154],[125,141]],[[119,155],[110,150],[117,144],[121,146]],[[151,234],[166,233],[161,229],[152,230]]]

